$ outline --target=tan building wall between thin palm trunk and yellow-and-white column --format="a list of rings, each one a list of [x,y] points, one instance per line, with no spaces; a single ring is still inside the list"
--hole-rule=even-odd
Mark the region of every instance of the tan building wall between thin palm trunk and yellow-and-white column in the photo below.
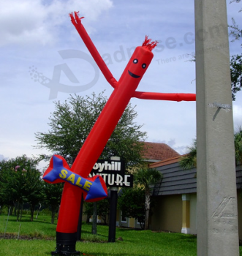
[[[180,232],[182,226],[181,195],[154,197],[156,206],[151,215],[151,230]]]

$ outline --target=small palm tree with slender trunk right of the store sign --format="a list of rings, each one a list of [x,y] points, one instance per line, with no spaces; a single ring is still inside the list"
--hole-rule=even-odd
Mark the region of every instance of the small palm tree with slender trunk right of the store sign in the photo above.
[[[145,189],[145,230],[148,230],[148,219],[151,208],[151,185],[162,178],[162,173],[151,168],[142,168],[135,173],[135,184]]]

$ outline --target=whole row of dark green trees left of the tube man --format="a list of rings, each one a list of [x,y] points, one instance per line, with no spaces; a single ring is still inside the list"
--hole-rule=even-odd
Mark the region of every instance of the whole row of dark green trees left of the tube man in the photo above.
[[[0,162],[0,206],[15,208],[17,220],[20,220],[23,204],[29,203],[33,221],[34,208],[42,203],[50,207],[54,222],[63,184],[48,184],[42,181],[41,173],[37,170],[38,162],[39,158],[29,158],[25,155]]]

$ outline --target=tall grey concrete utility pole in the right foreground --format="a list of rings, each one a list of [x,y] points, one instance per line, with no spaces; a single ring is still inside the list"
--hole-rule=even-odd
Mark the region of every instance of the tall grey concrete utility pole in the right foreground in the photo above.
[[[194,0],[197,255],[239,255],[226,0]]]

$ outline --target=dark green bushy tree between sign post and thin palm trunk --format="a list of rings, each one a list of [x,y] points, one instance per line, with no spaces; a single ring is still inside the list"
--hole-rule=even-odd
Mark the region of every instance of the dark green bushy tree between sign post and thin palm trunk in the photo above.
[[[135,218],[140,227],[145,227],[145,189],[143,187],[122,188],[118,197],[118,208],[123,217]]]

